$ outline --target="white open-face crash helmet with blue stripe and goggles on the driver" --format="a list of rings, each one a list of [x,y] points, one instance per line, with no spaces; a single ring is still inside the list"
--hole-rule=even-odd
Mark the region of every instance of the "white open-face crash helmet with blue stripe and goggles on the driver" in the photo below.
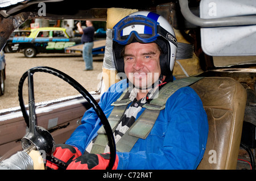
[[[118,72],[124,72],[121,56],[123,47],[134,42],[158,44],[162,50],[160,55],[162,75],[172,75],[177,40],[172,26],[163,16],[149,11],[138,11],[126,16],[113,27],[113,56]]]

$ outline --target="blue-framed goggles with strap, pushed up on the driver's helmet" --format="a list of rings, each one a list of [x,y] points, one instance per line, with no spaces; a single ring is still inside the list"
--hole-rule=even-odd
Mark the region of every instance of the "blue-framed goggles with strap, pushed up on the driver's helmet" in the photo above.
[[[136,15],[123,18],[113,27],[113,41],[126,45],[135,38],[139,43],[151,43],[162,36],[177,46],[176,37],[147,16]]]

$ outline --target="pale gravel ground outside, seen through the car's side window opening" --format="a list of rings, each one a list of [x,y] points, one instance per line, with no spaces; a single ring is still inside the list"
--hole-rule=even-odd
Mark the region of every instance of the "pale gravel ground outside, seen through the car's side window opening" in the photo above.
[[[26,58],[23,53],[5,53],[5,58],[5,94],[0,96],[0,110],[19,106],[18,83],[20,77],[34,66],[49,66],[63,71],[89,92],[97,90],[100,83],[103,64],[102,54],[93,57],[94,70],[92,71],[83,71],[85,69],[84,60],[82,56],[75,54],[38,54],[35,58]],[[34,92],[36,103],[79,94],[67,82],[48,73],[34,74]],[[28,100],[27,94],[27,81],[25,81],[23,85],[23,100],[26,104]]]

